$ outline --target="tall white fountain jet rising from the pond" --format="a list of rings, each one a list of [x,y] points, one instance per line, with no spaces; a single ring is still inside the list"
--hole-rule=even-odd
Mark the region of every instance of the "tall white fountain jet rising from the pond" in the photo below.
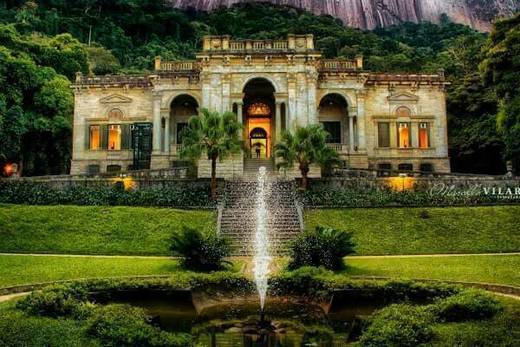
[[[260,310],[263,312],[268,289],[269,269],[272,260],[269,254],[269,230],[267,227],[269,215],[266,204],[266,195],[269,185],[267,182],[266,168],[263,166],[258,170],[257,183],[253,275],[258,296],[260,297]]]

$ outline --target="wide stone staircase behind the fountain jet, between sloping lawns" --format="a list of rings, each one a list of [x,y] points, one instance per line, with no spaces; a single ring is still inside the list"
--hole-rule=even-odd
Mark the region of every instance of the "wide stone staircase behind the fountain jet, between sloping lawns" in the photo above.
[[[298,235],[303,224],[303,221],[300,222],[301,210],[295,199],[295,182],[271,176],[267,184],[270,251],[274,255],[283,254],[287,243]],[[221,235],[231,240],[235,256],[253,254],[257,187],[255,180],[226,182],[219,212],[219,228]]]

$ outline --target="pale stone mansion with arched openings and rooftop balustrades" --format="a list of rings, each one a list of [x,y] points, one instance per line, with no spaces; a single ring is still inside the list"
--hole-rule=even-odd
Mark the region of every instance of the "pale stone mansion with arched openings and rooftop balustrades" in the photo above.
[[[77,76],[71,174],[183,166],[182,130],[201,108],[234,112],[243,124],[243,153],[219,162],[219,177],[274,161],[284,130],[315,123],[349,168],[449,172],[446,84],[442,71],[372,73],[361,57],[323,59],[312,35],[207,36],[193,61],[156,58],[143,75]],[[210,174],[205,158],[198,174]]]

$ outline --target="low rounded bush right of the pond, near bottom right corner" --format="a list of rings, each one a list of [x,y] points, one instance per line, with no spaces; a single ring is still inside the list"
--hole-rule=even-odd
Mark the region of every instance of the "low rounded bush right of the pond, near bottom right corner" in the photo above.
[[[436,317],[444,322],[460,322],[491,318],[503,309],[493,296],[477,290],[465,290],[440,300],[433,308]]]

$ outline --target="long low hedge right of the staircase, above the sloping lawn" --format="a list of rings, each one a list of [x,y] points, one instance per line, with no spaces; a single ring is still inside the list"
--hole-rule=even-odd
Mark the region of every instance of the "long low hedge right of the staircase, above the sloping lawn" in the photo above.
[[[312,186],[299,192],[299,198],[306,207],[421,207],[421,206],[472,206],[483,204],[515,203],[514,200],[501,199],[493,195],[471,195],[463,190],[450,194],[431,194],[428,191],[395,191],[385,187]],[[518,201],[516,201],[518,202]]]

